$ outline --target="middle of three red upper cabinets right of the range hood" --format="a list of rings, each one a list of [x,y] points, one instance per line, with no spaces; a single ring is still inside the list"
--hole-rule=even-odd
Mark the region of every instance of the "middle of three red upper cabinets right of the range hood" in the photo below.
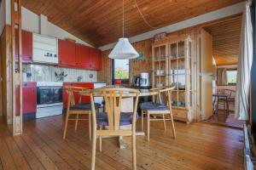
[[[76,65],[79,68],[90,69],[90,48],[76,44]]]

